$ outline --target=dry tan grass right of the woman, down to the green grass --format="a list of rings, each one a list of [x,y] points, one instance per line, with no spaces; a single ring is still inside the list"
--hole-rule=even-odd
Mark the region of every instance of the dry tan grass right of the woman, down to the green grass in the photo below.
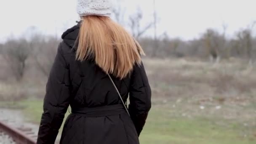
[[[245,62],[145,59],[144,64],[153,97],[176,109],[173,115],[214,116],[256,129],[256,70]]]

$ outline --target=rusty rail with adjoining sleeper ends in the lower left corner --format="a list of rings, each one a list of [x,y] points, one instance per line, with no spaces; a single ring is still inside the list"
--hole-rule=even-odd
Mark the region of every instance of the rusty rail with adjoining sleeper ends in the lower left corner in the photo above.
[[[32,132],[31,128],[14,127],[7,120],[5,122],[0,121],[0,132],[3,132],[10,136],[14,141],[14,144],[36,144],[37,135]],[[8,144],[2,142],[0,139],[0,144]]]

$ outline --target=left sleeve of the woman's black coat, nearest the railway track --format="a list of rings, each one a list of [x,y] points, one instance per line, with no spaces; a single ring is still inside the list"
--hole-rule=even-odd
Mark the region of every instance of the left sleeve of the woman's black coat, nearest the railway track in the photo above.
[[[37,144],[54,144],[69,106],[69,67],[59,45],[46,84]]]

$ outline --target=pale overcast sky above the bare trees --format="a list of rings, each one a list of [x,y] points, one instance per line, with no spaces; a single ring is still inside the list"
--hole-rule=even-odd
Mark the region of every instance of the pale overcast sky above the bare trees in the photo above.
[[[255,5],[256,0],[156,0],[157,33],[192,39],[207,28],[221,31],[227,24],[231,35],[256,20]],[[144,11],[144,23],[153,20],[153,0],[124,0],[127,13],[137,6]],[[32,26],[44,34],[61,35],[78,20],[76,0],[0,0],[0,19],[0,42],[26,35]]]

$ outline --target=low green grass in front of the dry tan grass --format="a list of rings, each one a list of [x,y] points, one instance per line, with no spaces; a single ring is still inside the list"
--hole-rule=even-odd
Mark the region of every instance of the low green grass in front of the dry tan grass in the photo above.
[[[39,123],[43,101],[21,101],[15,105],[24,107],[24,114],[33,122]],[[256,132],[256,128],[253,130]],[[153,105],[140,141],[141,144],[256,144],[256,136],[235,122],[214,116],[173,116],[168,107]]]

